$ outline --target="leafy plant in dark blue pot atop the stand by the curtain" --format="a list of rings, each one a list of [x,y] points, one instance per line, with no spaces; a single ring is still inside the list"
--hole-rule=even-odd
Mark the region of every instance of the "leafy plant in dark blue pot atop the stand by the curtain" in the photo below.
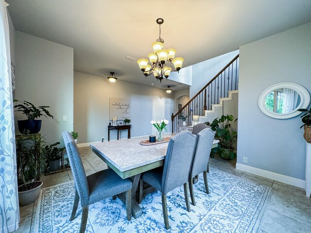
[[[25,100],[14,100],[14,102],[21,103],[14,106],[14,108],[17,108],[16,112],[22,112],[28,118],[27,120],[17,120],[18,130],[20,133],[25,133],[27,130],[30,133],[39,133],[41,130],[42,120],[37,120],[37,118],[40,116],[45,116],[47,118],[49,116],[53,118],[49,111],[46,110],[49,106],[35,107],[34,104]]]

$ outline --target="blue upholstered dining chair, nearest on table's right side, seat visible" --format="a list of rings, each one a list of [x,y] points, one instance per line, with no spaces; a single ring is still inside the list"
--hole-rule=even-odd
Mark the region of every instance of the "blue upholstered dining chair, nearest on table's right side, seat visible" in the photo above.
[[[169,142],[164,166],[146,171],[142,173],[140,177],[138,203],[141,203],[143,181],[159,190],[162,195],[162,209],[166,229],[170,228],[166,195],[168,192],[182,184],[184,184],[186,207],[190,212],[188,177],[192,162],[194,143],[195,135],[192,133],[183,131],[176,134]]]

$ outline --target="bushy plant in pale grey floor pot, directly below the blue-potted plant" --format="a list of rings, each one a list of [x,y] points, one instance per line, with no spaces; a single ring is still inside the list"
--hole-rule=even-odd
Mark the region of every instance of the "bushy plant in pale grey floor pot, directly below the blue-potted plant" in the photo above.
[[[25,140],[35,140],[25,142]],[[21,135],[16,141],[18,200],[20,205],[29,205],[37,200],[42,182],[40,166],[44,162],[39,145],[42,138],[33,135]]]

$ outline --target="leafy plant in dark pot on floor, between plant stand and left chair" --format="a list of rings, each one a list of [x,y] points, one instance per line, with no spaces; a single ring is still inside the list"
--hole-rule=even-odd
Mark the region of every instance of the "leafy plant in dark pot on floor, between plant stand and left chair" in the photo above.
[[[63,148],[56,147],[59,145],[60,142],[55,142],[50,145],[44,144],[41,147],[41,154],[46,160],[46,169],[47,171],[55,171],[59,169],[60,160],[62,156],[60,155],[60,152],[63,150]]]

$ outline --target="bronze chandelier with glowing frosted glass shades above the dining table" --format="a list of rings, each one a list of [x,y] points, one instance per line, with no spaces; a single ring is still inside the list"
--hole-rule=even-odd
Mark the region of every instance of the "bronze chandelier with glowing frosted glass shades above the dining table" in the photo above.
[[[184,61],[184,59],[181,57],[174,58],[176,50],[163,49],[164,40],[161,38],[161,24],[163,22],[163,18],[156,19],[156,23],[159,25],[159,38],[156,39],[154,43],[152,43],[154,52],[148,54],[151,65],[148,64],[149,61],[147,59],[139,59],[137,61],[140,70],[146,78],[153,73],[156,80],[159,80],[160,83],[164,77],[167,80],[172,71],[177,71],[179,73],[179,70],[181,69]],[[173,63],[175,70],[173,70],[171,67],[168,67],[168,63]]]

